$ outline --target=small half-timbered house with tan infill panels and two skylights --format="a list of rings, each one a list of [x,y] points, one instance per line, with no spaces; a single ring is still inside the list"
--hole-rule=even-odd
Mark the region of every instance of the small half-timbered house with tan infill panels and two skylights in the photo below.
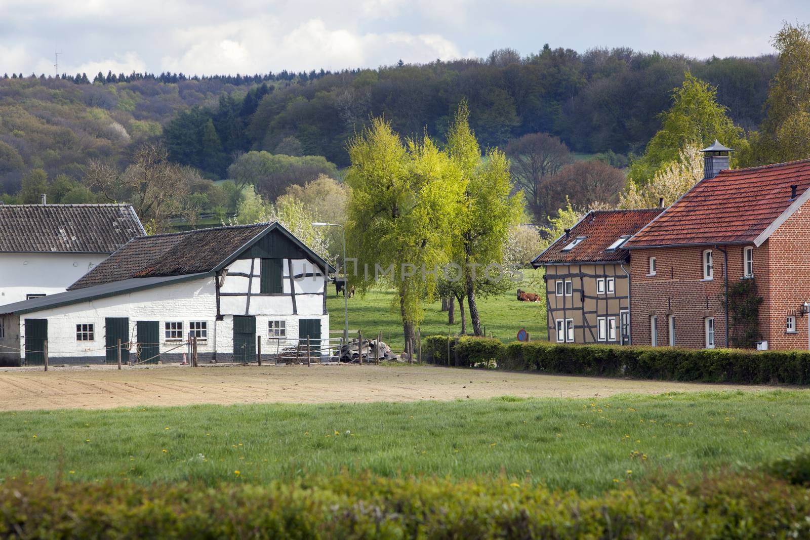
[[[549,341],[631,342],[630,259],[622,246],[661,211],[590,211],[532,261],[545,268]]]

